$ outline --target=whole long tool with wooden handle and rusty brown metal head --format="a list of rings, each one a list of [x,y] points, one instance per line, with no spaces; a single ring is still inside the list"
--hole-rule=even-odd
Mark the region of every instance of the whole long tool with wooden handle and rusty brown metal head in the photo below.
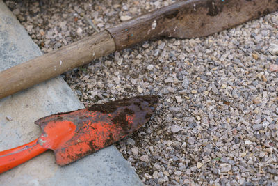
[[[208,36],[275,10],[277,0],[177,1],[0,72],[0,99],[143,40]]]

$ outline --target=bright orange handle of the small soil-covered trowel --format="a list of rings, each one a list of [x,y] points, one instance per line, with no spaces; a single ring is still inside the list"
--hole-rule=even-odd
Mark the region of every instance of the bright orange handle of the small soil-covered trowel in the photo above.
[[[26,162],[46,150],[47,148],[40,146],[40,144],[38,144],[38,139],[35,139],[35,141],[23,146],[2,151],[0,152],[0,173]]]

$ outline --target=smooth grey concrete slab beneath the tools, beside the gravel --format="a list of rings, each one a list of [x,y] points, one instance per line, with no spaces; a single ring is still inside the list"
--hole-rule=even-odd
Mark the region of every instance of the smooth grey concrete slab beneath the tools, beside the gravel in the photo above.
[[[42,53],[0,0],[0,71]],[[33,141],[41,134],[35,120],[83,108],[67,83],[56,77],[0,100],[0,151]],[[12,118],[8,121],[6,118]],[[1,185],[143,185],[115,146],[68,166],[55,164],[51,150],[0,175]]]

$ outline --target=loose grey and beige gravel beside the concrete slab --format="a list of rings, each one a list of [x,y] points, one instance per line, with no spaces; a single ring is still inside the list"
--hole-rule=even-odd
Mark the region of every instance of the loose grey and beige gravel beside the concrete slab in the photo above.
[[[173,1],[5,1],[51,52]],[[63,75],[86,107],[161,95],[154,117],[117,143],[145,185],[278,182],[278,13],[206,38],[163,38]]]

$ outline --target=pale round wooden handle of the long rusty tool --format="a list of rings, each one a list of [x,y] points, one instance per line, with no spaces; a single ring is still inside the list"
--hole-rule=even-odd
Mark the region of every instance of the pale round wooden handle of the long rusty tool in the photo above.
[[[115,52],[108,31],[26,61],[0,73],[0,99]]]

